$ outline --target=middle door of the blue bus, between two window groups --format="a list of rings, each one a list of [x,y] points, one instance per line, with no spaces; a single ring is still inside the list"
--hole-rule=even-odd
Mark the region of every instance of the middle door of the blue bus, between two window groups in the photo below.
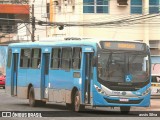
[[[42,56],[42,81],[41,81],[41,94],[42,99],[48,98],[48,83],[49,83],[49,53],[43,53]]]

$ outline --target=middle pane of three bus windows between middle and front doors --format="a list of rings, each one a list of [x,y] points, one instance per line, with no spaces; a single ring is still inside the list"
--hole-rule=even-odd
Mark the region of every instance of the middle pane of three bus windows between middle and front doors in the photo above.
[[[72,48],[62,48],[62,69],[71,68]]]

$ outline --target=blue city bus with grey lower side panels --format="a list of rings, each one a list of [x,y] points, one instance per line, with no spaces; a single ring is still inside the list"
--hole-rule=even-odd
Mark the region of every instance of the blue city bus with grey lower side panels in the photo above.
[[[151,60],[145,43],[96,39],[13,43],[8,46],[6,91],[30,106],[150,105]]]

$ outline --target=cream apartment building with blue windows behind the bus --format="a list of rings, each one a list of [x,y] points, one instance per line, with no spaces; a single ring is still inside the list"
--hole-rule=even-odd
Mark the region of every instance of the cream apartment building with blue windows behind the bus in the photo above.
[[[50,22],[72,23],[50,27],[50,36],[143,41],[160,75],[159,20],[160,0],[50,0]]]

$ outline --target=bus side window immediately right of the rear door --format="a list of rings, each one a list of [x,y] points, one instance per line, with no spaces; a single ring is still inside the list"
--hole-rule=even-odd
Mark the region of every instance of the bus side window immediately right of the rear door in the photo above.
[[[30,56],[31,56],[31,50],[30,49],[22,49],[21,50],[20,67],[25,67],[25,68],[29,67]]]

